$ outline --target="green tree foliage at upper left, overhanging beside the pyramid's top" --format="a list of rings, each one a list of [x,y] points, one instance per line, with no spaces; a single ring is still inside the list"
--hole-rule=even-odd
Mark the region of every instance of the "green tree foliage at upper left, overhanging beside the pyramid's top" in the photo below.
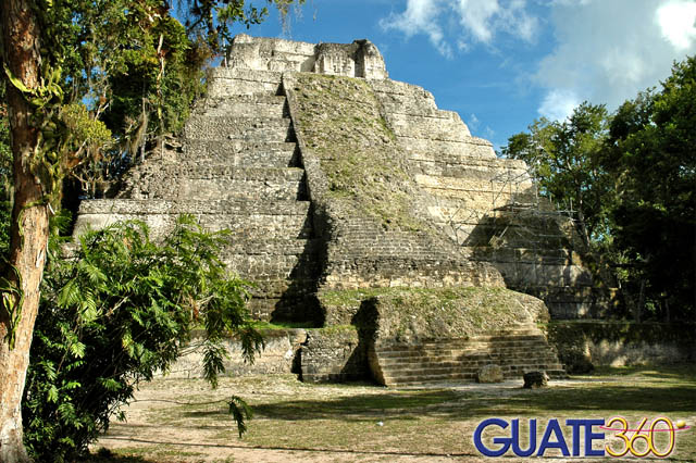
[[[303,0],[268,3],[285,17],[291,4]],[[244,0],[192,0],[179,2],[179,17],[187,18],[184,27],[171,14],[171,4],[161,0],[34,2],[41,30],[40,85],[29,89],[9,70],[2,74],[35,109],[33,125],[41,129],[41,139],[32,165],[50,200],[60,198],[65,174],[79,180],[89,197],[104,193],[138,153],[142,158],[161,137],[179,133],[194,99],[204,91],[203,68],[231,39],[233,24],[249,27],[268,15],[266,8],[257,9]],[[80,125],[88,120],[92,127],[103,123],[112,139],[99,137],[102,142],[95,145],[66,129],[60,117],[65,111],[62,104],[69,111],[84,104],[87,114],[80,115]],[[5,122],[0,108],[0,187],[9,191]]]

